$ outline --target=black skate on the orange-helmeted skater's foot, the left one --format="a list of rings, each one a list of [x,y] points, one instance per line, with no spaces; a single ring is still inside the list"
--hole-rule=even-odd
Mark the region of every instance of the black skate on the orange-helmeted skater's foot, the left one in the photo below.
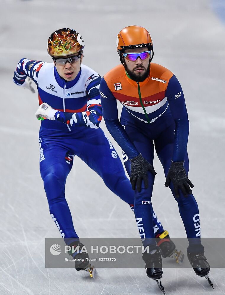
[[[165,294],[165,289],[161,283],[163,275],[162,257],[158,249],[151,251],[151,253],[142,254],[142,259],[145,261],[145,268],[147,276],[156,281],[159,289]]]

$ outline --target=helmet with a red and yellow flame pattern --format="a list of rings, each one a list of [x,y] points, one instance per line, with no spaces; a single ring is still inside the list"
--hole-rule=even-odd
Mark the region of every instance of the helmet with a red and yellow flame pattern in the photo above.
[[[81,35],[72,29],[59,29],[48,38],[47,50],[52,57],[77,53],[84,48]]]

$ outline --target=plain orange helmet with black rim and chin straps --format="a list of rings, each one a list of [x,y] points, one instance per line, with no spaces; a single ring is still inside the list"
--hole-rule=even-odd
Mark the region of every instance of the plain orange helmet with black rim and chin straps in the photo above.
[[[124,64],[122,53],[124,53],[126,49],[141,47],[147,47],[149,51],[152,51],[152,55],[149,61],[150,63],[154,55],[153,43],[149,32],[145,28],[139,26],[129,26],[122,29],[117,35],[116,49],[119,53],[120,61],[122,64]]]

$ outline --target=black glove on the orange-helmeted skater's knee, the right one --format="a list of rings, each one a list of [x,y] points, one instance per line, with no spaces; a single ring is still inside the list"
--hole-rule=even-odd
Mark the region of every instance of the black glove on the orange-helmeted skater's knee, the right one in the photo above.
[[[171,160],[171,166],[169,168],[169,172],[166,176],[166,182],[165,186],[169,186],[170,182],[172,181],[174,185],[174,191],[175,191],[175,197],[179,198],[179,191],[178,189],[181,189],[182,193],[185,197],[187,197],[187,194],[192,194],[193,184],[190,182],[190,180],[187,178],[186,171],[184,169],[184,161],[182,162],[173,162]]]

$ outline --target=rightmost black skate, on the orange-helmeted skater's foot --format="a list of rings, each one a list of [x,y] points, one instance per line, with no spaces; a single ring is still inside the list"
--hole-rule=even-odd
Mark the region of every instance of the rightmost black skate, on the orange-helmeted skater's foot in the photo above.
[[[207,261],[207,258],[205,258],[204,254],[204,247],[202,245],[196,245],[195,248],[194,246],[187,247],[187,258],[191,266],[193,267],[196,275],[206,278],[210,286],[213,288],[213,283],[208,277],[210,265]]]

